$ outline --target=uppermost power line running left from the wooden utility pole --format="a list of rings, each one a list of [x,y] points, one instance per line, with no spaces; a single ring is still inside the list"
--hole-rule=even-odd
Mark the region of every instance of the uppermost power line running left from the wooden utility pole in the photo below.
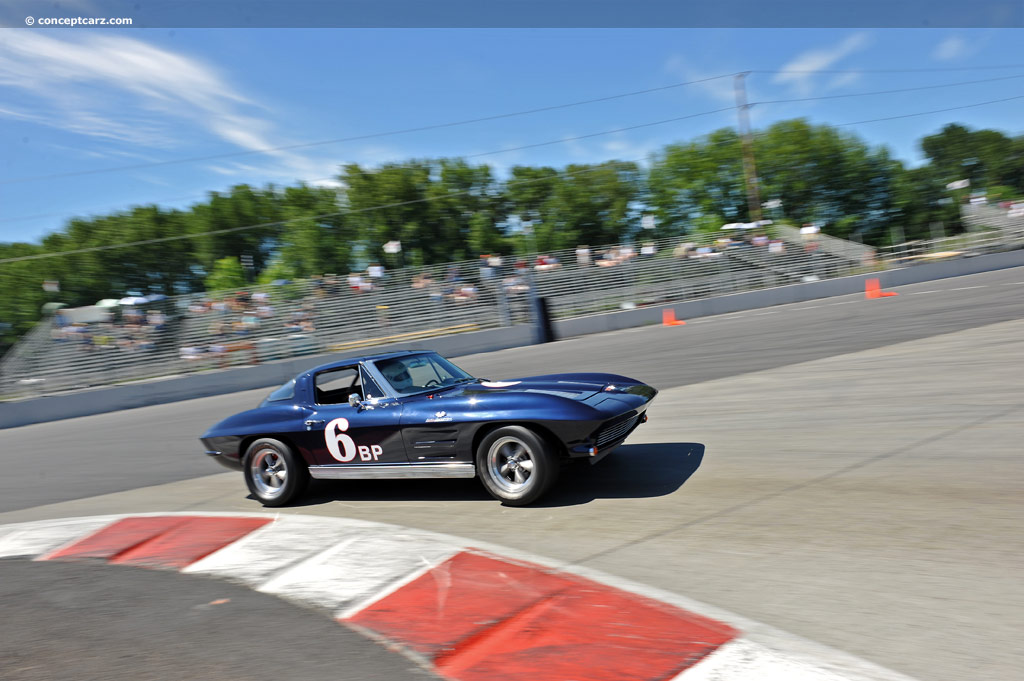
[[[0,179],[0,184],[15,184],[20,182],[33,182],[45,179],[61,179],[66,177],[80,177],[83,175],[98,175],[102,173],[113,173],[121,172],[125,170],[142,170],[144,168],[156,168],[159,166],[170,166],[178,165],[183,163],[198,163],[200,161],[216,161],[219,159],[230,159],[240,156],[251,156],[254,154],[270,154],[273,152],[290,152],[297,148],[309,148],[311,146],[324,146],[327,144],[340,144],[342,142],[360,141],[364,139],[374,139],[377,137],[388,137],[391,135],[403,135],[412,132],[425,132],[428,130],[440,130],[442,128],[453,128],[461,125],[470,125],[472,123],[484,123],[487,121],[500,121],[507,118],[514,118],[517,116],[528,116],[531,114],[541,114],[544,112],[557,111],[560,109],[569,109],[572,107],[582,107],[585,104],[593,104],[601,101],[611,101],[613,99],[623,99],[625,97],[633,97],[640,94],[649,94],[651,92],[660,92],[664,90],[670,90],[677,87],[684,87],[686,85],[696,85],[697,83],[707,83],[713,80],[718,80],[720,78],[731,78],[734,74],[724,74],[721,76],[709,76],[708,78],[699,78],[697,80],[686,81],[683,83],[672,83],[671,85],[662,85],[658,87],[646,88],[643,90],[633,90],[631,92],[621,92],[618,94],[610,94],[604,97],[594,97],[593,99],[581,99],[580,101],[570,101],[563,104],[551,104],[549,107],[539,107],[537,109],[527,109],[519,112],[511,112],[507,114],[496,114],[494,116],[481,116],[478,118],[466,119],[462,121],[452,121],[449,123],[436,123],[433,125],[422,125],[414,128],[403,128],[400,130],[388,130],[386,132],[373,132],[365,135],[353,135],[351,137],[338,137],[336,139],[323,139],[313,142],[299,142],[296,144],[286,144],[283,146],[269,146],[266,148],[258,150],[248,150],[244,152],[227,152],[224,154],[211,154],[208,156],[194,156],[183,159],[171,159],[168,161],[153,161],[148,163],[136,163],[127,166],[115,166],[113,168],[93,168],[91,170],[77,170],[66,173],[53,173],[50,175],[35,175],[32,177],[14,177],[9,179]]]

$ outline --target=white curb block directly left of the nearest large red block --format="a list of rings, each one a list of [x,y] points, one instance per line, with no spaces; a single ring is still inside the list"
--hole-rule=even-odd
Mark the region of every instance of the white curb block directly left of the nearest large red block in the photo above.
[[[460,550],[429,533],[368,530],[285,570],[257,591],[344,609],[419,570],[424,561],[437,564]]]

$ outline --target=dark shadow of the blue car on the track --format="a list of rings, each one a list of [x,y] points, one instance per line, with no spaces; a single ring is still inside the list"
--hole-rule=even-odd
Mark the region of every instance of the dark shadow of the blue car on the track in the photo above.
[[[664,497],[678,490],[700,466],[698,442],[624,444],[591,466],[574,461],[532,507],[586,504],[595,499]],[[293,506],[356,501],[483,501],[493,499],[478,479],[313,480]],[[497,502],[496,502],[497,503]]]

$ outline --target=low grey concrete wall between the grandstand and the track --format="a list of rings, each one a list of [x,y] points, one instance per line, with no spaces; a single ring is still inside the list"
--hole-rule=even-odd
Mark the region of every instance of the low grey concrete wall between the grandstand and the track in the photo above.
[[[1024,251],[1011,251],[974,258],[961,258],[933,262],[871,274],[858,274],[842,279],[808,284],[748,291],[728,296],[702,298],[689,302],[643,307],[608,312],[554,323],[555,336],[568,338],[605,331],[616,331],[650,324],[659,324],[665,309],[673,309],[676,317],[691,320],[713,314],[798,303],[833,296],[862,293],[864,282],[879,279],[883,288],[919,284],[950,276],[976,274],[984,271],[1024,266]],[[509,347],[519,347],[532,342],[529,326],[521,325],[478,331],[454,336],[432,338],[419,342],[393,343],[351,350],[345,353],[321,354],[284,359],[256,367],[243,367],[222,371],[172,377],[144,383],[111,386],[83,390],[62,395],[49,395],[31,399],[0,402],[0,428],[15,428],[33,423],[44,423],[93,414],[118,412],[136,407],[207,397],[210,395],[254,390],[280,385],[302,371],[317,365],[345,357],[399,349],[426,348],[445,356],[457,357],[477,352],[493,352]]]

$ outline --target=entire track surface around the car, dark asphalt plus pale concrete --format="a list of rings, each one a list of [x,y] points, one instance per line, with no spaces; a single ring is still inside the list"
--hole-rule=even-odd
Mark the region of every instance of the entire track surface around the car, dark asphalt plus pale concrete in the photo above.
[[[369,481],[316,484],[286,512],[569,561],[922,679],[1016,681],[1024,270],[896,291],[461,358],[493,379],[603,370],[663,394],[630,444],[536,507],[474,480]],[[4,431],[0,522],[259,511],[195,438],[264,392]]]

